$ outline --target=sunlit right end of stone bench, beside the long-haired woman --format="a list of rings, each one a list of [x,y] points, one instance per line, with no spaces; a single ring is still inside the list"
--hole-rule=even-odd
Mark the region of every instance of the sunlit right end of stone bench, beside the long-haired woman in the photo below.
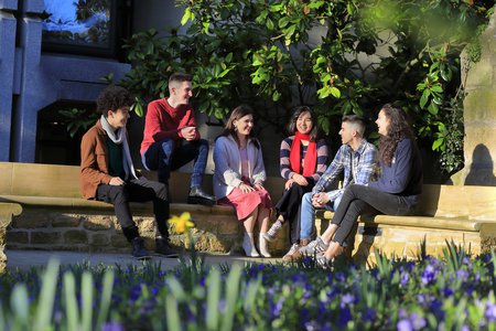
[[[317,233],[332,217],[332,212],[317,211]],[[416,258],[422,252],[441,256],[446,242],[481,254],[489,252],[495,241],[495,186],[424,184],[416,216],[359,217],[348,254],[357,263],[374,263],[376,248],[396,257]]]

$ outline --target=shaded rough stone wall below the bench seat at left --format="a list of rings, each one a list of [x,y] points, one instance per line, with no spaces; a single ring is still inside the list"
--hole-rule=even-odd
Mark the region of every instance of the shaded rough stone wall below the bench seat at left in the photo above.
[[[195,222],[192,231],[195,249],[218,254],[241,254],[242,227],[230,207],[213,209],[192,205],[172,205],[171,214],[188,211]],[[134,215],[141,236],[149,249],[154,249],[155,225],[150,213]],[[180,235],[170,226],[170,241],[175,248],[188,247],[188,236]],[[271,252],[283,254],[288,249],[287,237],[271,243]],[[115,217],[114,210],[24,209],[12,220],[7,231],[9,249],[48,249],[77,252],[129,253],[126,241]]]

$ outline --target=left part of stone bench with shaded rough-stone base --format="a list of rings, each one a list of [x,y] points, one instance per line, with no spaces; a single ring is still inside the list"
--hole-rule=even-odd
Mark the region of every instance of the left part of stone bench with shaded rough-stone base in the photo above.
[[[153,172],[144,174],[155,178]],[[129,253],[130,246],[115,217],[114,206],[80,197],[78,179],[78,167],[0,162],[0,202],[17,204],[20,209],[7,227],[7,247]],[[235,211],[227,206],[186,204],[188,183],[188,173],[173,172],[171,215],[191,213],[196,225],[192,232],[196,249],[241,253],[242,227]],[[205,177],[204,186],[212,192],[212,175]],[[278,192],[283,183],[269,179],[267,186]],[[145,246],[153,249],[152,203],[131,203],[131,211]],[[170,234],[173,246],[184,247],[187,236],[176,234],[172,227]],[[271,244],[271,250],[283,253],[284,239]]]

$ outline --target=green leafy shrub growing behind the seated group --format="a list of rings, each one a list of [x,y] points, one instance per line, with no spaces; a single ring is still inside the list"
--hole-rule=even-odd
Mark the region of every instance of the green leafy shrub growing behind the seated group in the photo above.
[[[463,164],[461,52],[478,61],[477,38],[495,1],[179,0],[182,24],[127,41],[122,84],[143,104],[163,97],[174,71],[194,75],[196,107],[218,119],[240,103],[283,131],[294,105],[311,105],[326,134],[341,117],[375,118],[395,102],[451,173]],[[165,35],[165,36],[164,36]]]

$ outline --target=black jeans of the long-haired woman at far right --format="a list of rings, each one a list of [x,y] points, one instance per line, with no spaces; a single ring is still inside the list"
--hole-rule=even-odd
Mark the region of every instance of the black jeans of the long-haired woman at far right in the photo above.
[[[412,210],[413,206],[408,204],[403,196],[369,186],[352,184],[345,190],[334,214],[332,224],[339,227],[332,241],[343,246],[359,215],[386,214],[400,216],[410,214]]]

